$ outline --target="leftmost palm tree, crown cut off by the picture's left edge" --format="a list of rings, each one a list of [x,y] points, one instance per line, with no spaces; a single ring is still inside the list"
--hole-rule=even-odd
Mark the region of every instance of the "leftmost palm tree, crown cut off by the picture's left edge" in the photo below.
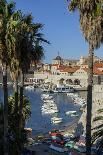
[[[11,15],[14,12],[14,3],[0,1],[0,60],[3,66],[3,89],[4,89],[4,154],[8,154],[8,89],[7,89],[7,66],[10,61],[7,46],[7,26]],[[9,32],[8,32],[9,33]],[[9,46],[11,41],[9,39]]]

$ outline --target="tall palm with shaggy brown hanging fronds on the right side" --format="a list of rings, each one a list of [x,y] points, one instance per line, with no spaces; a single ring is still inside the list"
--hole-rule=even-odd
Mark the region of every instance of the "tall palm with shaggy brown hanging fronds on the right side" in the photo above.
[[[93,55],[94,50],[100,47],[103,38],[102,31],[102,1],[71,0],[69,10],[78,10],[80,27],[89,44],[88,61],[88,88],[87,88],[87,118],[86,118],[86,153],[91,154],[91,113],[92,113],[92,86],[93,86]]]

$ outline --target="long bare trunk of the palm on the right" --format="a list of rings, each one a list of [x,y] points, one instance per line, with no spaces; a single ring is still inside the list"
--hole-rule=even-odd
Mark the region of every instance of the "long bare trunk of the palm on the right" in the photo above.
[[[91,155],[91,118],[92,118],[92,86],[93,86],[93,48],[89,47],[87,116],[86,116],[86,155]]]

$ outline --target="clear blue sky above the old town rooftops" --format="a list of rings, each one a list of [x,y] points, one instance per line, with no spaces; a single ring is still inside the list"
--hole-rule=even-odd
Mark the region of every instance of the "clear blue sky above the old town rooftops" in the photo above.
[[[10,0],[8,0],[10,1]],[[59,52],[64,59],[79,59],[87,56],[88,44],[79,27],[77,12],[68,11],[66,0],[14,0],[16,9],[32,13],[34,22],[42,23],[44,38],[51,44],[43,44],[44,62],[51,63]],[[103,46],[95,55],[103,57]]]

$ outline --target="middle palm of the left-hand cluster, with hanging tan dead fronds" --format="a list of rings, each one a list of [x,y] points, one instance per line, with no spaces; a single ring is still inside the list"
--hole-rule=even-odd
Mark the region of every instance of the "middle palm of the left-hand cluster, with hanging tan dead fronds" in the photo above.
[[[9,68],[10,68],[10,74],[12,77],[12,80],[15,82],[15,87],[14,87],[14,94],[15,94],[15,112],[16,117],[18,118],[18,77],[20,75],[20,68],[19,68],[19,62],[18,59],[15,55],[16,51],[16,37],[18,35],[18,29],[21,24],[21,11],[16,11],[14,14],[11,16],[8,27],[7,27],[7,45],[9,45],[9,38],[11,39],[11,45],[8,46],[8,53],[10,57],[10,62],[9,62]],[[9,33],[8,33],[9,32]],[[11,36],[12,34],[12,36]],[[15,119],[15,126],[17,126],[17,131],[18,131],[18,119]]]

